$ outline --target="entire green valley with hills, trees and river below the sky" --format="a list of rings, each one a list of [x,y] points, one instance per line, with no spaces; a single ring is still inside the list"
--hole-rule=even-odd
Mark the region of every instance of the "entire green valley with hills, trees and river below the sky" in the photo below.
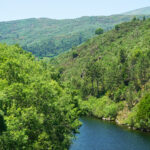
[[[149,150],[149,16],[0,22],[0,149]]]

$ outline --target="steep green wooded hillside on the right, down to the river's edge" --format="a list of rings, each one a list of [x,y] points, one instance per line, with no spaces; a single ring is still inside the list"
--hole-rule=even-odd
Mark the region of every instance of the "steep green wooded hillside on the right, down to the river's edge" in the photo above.
[[[53,59],[62,80],[79,90],[81,110],[150,130],[150,19],[116,25]]]

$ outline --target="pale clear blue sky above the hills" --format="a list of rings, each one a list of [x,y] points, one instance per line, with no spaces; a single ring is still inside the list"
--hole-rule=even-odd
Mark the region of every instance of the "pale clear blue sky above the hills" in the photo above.
[[[0,21],[102,16],[150,6],[150,0],[0,0]]]

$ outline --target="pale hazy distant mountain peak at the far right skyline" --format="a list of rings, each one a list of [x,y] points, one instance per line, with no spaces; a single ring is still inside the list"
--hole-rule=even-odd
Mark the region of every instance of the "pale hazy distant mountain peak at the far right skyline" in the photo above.
[[[124,15],[150,15],[150,7],[144,7],[124,13]]]

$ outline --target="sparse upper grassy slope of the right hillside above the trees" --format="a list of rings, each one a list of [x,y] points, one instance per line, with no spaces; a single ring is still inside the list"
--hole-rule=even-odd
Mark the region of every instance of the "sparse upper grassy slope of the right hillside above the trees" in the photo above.
[[[149,47],[149,24],[148,19],[145,22],[136,20],[116,25],[113,30],[88,40],[76,49],[55,57],[54,60],[65,68],[64,78],[75,77],[81,74],[90,59],[115,54],[117,57],[121,49],[131,53],[132,49]],[[76,58],[73,58],[74,53],[77,54]]]

